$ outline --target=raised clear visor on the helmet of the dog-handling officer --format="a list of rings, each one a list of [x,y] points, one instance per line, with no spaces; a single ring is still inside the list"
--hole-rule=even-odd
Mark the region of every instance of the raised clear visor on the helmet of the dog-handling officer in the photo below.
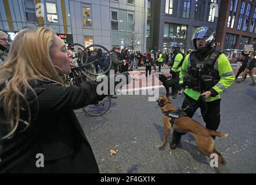
[[[215,32],[211,28],[200,27],[194,31],[192,40],[203,39],[205,42],[211,42],[215,38]]]

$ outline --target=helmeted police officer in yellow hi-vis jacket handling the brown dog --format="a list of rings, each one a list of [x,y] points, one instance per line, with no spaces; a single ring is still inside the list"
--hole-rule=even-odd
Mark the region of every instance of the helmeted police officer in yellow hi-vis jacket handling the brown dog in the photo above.
[[[182,104],[186,114],[193,117],[200,108],[205,127],[217,131],[221,122],[221,94],[235,81],[235,75],[225,54],[214,49],[215,38],[215,32],[210,27],[196,29],[192,37],[196,51],[186,56],[179,84],[182,91],[186,87]],[[205,97],[205,102],[201,97]],[[182,135],[174,131],[171,149],[177,147]]]

